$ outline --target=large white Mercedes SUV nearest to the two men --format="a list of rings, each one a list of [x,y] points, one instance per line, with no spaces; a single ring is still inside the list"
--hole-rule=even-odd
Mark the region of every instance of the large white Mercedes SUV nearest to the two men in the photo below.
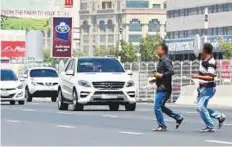
[[[112,57],[81,57],[70,59],[60,74],[57,105],[67,110],[83,110],[84,105],[109,105],[117,111],[124,105],[127,111],[136,108],[132,73],[126,73],[120,62]]]

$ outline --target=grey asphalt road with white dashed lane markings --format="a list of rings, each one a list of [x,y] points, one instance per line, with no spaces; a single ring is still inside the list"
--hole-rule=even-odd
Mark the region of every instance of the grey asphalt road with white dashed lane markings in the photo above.
[[[110,112],[105,106],[88,106],[83,112],[59,111],[56,103],[1,105],[1,145],[3,146],[232,146],[232,109],[225,125],[215,133],[203,128],[194,107],[171,105],[185,121],[175,130],[175,121],[166,117],[167,132],[156,127],[152,104],[139,104],[135,112]],[[217,123],[217,122],[216,122]]]

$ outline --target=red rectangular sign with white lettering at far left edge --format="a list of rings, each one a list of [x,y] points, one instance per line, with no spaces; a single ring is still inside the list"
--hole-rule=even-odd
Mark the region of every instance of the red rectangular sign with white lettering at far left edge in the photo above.
[[[25,41],[1,41],[2,57],[24,57]]]

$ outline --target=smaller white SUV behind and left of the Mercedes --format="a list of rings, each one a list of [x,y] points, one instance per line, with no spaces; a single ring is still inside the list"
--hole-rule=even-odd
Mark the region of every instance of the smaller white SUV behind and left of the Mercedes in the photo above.
[[[26,71],[25,97],[28,102],[33,97],[51,97],[55,102],[57,98],[59,76],[54,68],[34,67]]]

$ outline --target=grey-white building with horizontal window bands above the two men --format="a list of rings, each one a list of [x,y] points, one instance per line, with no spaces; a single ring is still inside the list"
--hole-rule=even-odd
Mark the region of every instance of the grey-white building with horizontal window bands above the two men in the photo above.
[[[199,34],[201,42],[212,43],[217,58],[222,58],[219,40],[232,41],[231,16],[232,0],[168,0],[166,42],[171,54],[180,60],[196,59],[194,37]]]

